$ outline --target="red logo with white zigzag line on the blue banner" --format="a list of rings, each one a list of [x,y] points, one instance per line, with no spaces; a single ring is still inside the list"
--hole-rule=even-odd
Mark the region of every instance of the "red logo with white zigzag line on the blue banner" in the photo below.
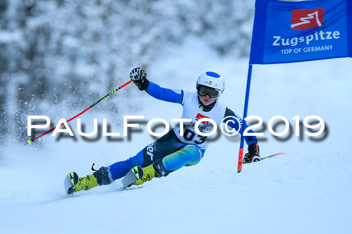
[[[324,24],[323,8],[310,10],[293,10],[291,13],[291,28],[294,30],[318,28]]]

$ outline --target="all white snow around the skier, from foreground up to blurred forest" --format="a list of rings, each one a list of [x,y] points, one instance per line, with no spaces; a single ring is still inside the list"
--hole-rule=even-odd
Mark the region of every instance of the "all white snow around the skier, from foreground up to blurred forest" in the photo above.
[[[147,70],[151,81],[192,91],[202,72],[217,71],[226,81],[220,100],[242,116],[248,60],[219,57],[196,38],[164,53]],[[266,140],[259,139],[261,156],[290,155],[243,165],[241,173],[236,172],[239,138],[220,135],[196,166],[133,189],[122,190],[117,180],[67,198],[62,183],[68,172],[83,176],[91,173],[93,162],[99,168],[135,155],[155,140],[146,124],[130,139],[115,137],[120,140],[113,142],[107,137],[85,142],[78,135],[76,141],[67,137],[56,141],[46,135],[31,146],[9,141],[0,165],[0,232],[351,233],[351,61],[254,65],[248,115],[258,115],[265,123],[282,115],[292,127],[296,115],[301,120],[317,115],[328,126],[328,134],[322,141],[306,135],[300,140],[294,134],[278,141],[266,130]],[[128,74],[132,68],[123,69]],[[141,102],[143,108],[120,109],[122,115],[164,118],[170,123],[181,116],[180,105],[154,100],[133,85],[109,99],[118,106],[124,92],[136,93],[129,101]],[[99,105],[104,109],[106,104]],[[93,118],[113,123],[114,116],[93,111],[81,116],[87,125]],[[76,122],[70,126],[76,134]],[[113,125],[112,131],[122,135],[122,126]]]

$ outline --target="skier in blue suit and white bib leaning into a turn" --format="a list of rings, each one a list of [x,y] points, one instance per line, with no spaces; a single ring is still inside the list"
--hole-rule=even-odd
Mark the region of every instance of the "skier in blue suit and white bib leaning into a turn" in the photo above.
[[[109,167],[103,166],[92,175],[79,177],[78,183],[71,188],[69,193],[110,184],[124,177],[134,166],[140,166],[144,171],[144,176],[134,183],[139,185],[154,177],[167,176],[183,166],[199,163],[212,138],[212,136],[201,136],[196,133],[195,122],[201,118],[212,119],[217,125],[232,119],[233,122],[227,122],[228,126],[239,130],[240,133],[245,129],[240,126],[242,125],[241,118],[218,101],[224,91],[225,83],[223,77],[216,72],[208,71],[200,75],[196,85],[197,92],[161,88],[148,81],[147,74],[141,68],[133,69],[130,79],[139,90],[144,90],[156,99],[181,104],[183,106],[182,119],[190,119],[191,122],[184,122],[182,125],[180,122],[177,123],[168,133],[147,145],[134,157],[116,162]],[[227,116],[230,117],[224,119]],[[213,128],[212,123],[202,122],[199,125],[199,130],[203,133],[209,133]],[[244,139],[248,145],[248,153],[244,155],[243,163],[259,161],[259,146],[256,137],[245,136]]]

